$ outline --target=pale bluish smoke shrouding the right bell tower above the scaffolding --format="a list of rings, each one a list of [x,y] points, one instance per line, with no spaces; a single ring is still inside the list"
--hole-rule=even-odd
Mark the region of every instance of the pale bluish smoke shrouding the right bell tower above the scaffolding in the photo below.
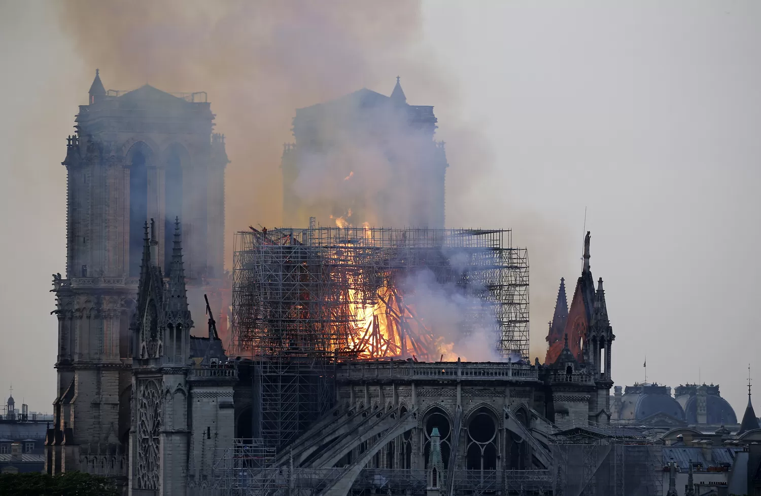
[[[297,148],[283,165],[293,177],[285,224],[316,216],[323,226],[443,227],[444,153],[432,123],[410,125],[414,109],[359,92],[301,110]]]

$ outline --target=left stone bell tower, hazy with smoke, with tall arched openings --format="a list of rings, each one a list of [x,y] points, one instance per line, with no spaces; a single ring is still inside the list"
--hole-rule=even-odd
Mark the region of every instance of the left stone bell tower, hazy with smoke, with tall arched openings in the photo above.
[[[126,456],[132,357],[140,351],[129,321],[145,223],[156,220],[161,241],[151,245],[153,259],[171,267],[174,223],[182,222],[191,307],[200,312],[204,293],[221,294],[228,157],[213,127],[204,92],[170,94],[148,84],[107,91],[100,71],[88,105],[79,106],[62,163],[66,267],[65,276],[53,276],[58,358],[49,473],[87,472],[104,450]]]

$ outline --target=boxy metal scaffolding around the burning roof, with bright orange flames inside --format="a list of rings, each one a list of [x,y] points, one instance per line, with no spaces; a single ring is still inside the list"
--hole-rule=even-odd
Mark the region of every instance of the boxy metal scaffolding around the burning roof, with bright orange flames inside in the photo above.
[[[310,227],[238,232],[233,343],[241,356],[436,361],[414,278],[456,293],[459,333],[489,327],[503,357],[528,356],[528,258],[509,230]],[[455,350],[456,351],[456,350]]]

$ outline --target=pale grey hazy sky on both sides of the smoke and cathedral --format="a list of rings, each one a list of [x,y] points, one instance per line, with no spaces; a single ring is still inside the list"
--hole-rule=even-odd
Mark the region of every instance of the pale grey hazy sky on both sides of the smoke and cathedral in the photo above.
[[[95,68],[57,16],[52,3],[0,1],[0,394],[12,383],[18,402],[46,412],[50,274],[65,262],[60,162]],[[616,384],[644,380],[647,355],[648,380],[721,384],[742,415],[747,365],[761,368],[759,25],[752,1],[424,2],[411,52],[433,58],[450,96],[398,72],[409,103],[435,106],[447,141],[447,224],[511,227],[529,249],[532,356],[543,357],[559,278],[571,293],[581,270],[586,208]],[[388,94],[393,72],[364,85]],[[188,89],[199,84],[167,88]]]

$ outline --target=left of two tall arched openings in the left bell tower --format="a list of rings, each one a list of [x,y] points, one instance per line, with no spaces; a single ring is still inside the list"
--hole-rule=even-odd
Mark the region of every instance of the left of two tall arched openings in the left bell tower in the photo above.
[[[129,275],[140,275],[143,226],[148,220],[148,147],[135,144],[129,164]]]

